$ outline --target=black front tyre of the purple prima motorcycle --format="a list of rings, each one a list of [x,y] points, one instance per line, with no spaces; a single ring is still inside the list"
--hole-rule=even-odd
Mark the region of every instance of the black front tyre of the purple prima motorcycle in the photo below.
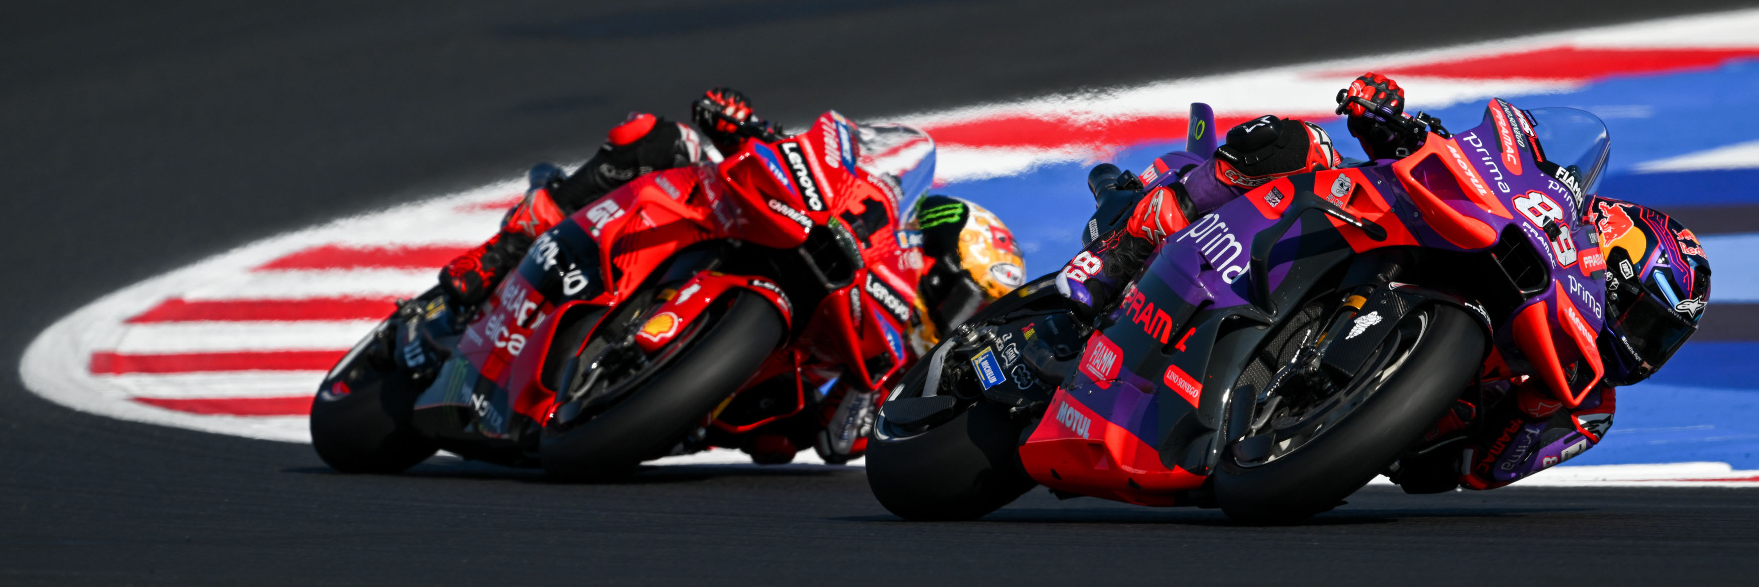
[[[1289,524],[1332,510],[1374,480],[1460,397],[1483,362],[1485,330],[1455,306],[1421,311],[1428,311],[1430,323],[1398,371],[1330,431],[1251,467],[1235,460],[1237,443],[1230,443],[1215,473],[1215,501],[1230,518]]]

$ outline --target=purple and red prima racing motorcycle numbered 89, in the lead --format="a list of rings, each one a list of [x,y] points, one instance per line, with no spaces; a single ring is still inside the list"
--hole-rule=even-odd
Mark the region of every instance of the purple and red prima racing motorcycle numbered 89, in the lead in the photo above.
[[[1091,176],[1077,267],[1156,181]],[[1249,522],[1326,511],[1425,450],[1486,367],[1578,406],[1604,373],[1604,271],[1585,193],[1608,134],[1576,109],[1490,100],[1483,123],[1400,160],[1265,183],[1173,232],[1084,309],[1057,274],[950,332],[890,390],[867,478],[904,518],[973,518],[1034,485],[1064,497],[1219,506]],[[1562,455],[1560,459],[1567,459]]]

